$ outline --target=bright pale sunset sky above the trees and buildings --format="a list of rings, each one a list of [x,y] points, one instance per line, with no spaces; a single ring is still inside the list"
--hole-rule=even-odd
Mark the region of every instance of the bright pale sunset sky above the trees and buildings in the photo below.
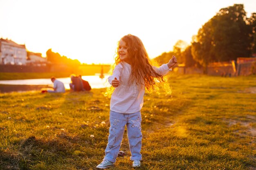
[[[48,49],[87,64],[112,64],[119,39],[137,35],[150,58],[191,42],[221,8],[244,4],[247,17],[255,0],[0,0],[0,38]],[[177,56],[178,57],[178,56]]]

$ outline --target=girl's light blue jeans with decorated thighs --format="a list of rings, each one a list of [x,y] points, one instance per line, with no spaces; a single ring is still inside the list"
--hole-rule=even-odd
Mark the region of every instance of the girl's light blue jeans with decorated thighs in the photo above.
[[[115,163],[124,136],[125,126],[129,148],[131,152],[130,160],[141,160],[141,113],[117,113],[110,111],[110,128],[108,135],[108,145],[105,150],[105,157],[108,161]]]

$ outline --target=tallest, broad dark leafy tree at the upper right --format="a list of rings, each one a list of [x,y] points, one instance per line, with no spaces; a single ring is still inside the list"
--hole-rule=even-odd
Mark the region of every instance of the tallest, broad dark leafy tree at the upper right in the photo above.
[[[250,53],[250,27],[243,4],[220,11],[205,23],[192,40],[192,55],[202,66],[209,62],[236,60]],[[205,69],[206,71],[206,69]]]

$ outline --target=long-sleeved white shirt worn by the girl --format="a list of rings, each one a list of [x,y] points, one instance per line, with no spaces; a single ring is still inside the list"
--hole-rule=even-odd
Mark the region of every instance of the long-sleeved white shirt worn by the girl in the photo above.
[[[171,68],[167,64],[163,64],[159,68],[153,66],[153,69],[160,75],[166,75]],[[126,62],[119,63],[111,76],[108,77],[108,82],[111,84],[115,77],[119,80],[120,85],[115,88],[110,99],[110,110],[118,113],[136,113],[141,110],[144,102],[145,86],[129,82],[131,75],[131,66]],[[144,84],[144,79],[141,81]]]

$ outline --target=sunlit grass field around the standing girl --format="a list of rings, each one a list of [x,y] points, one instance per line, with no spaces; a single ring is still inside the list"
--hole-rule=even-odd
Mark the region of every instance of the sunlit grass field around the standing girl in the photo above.
[[[171,95],[144,96],[136,169],[255,170],[256,76],[171,78]],[[110,126],[104,92],[0,94],[0,169],[95,170]],[[126,132],[121,150],[110,170],[133,169]]]

